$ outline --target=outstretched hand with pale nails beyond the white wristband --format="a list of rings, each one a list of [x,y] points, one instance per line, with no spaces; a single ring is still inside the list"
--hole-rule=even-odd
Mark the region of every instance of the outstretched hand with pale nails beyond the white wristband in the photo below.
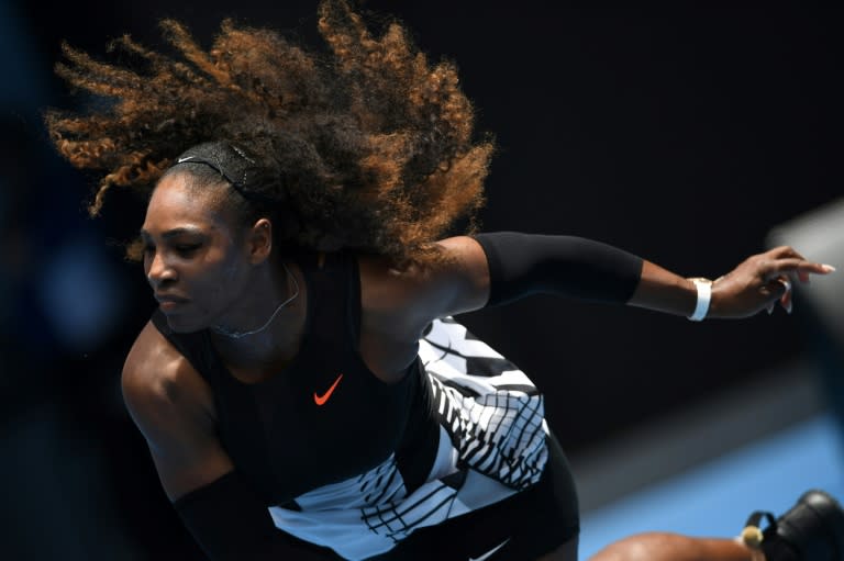
[[[777,302],[791,313],[793,283],[808,283],[810,274],[828,274],[834,270],[829,265],[807,261],[788,246],[751,256],[712,283],[707,317],[749,317],[762,310],[771,313]]]

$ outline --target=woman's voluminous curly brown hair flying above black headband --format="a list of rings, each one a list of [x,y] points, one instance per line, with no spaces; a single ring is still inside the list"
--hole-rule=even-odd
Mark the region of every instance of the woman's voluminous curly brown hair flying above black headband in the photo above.
[[[160,26],[175,56],[112,42],[131,67],[63,45],[56,72],[111,100],[45,113],[58,152],[102,173],[91,215],[113,186],[152,192],[185,149],[229,141],[281,179],[265,194],[295,207],[298,247],[424,262],[458,221],[473,229],[493,142],[474,137],[455,65],[429,63],[398,22],[375,36],[345,0],[323,0],[319,15],[321,52],[232,20],[208,51],[173,20]]]

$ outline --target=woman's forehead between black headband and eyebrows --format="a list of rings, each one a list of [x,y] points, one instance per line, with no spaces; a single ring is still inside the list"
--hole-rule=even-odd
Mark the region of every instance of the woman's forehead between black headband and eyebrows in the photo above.
[[[214,186],[197,188],[186,173],[163,178],[146,206],[143,229],[155,234],[188,226],[201,229],[227,227],[218,204],[216,189]]]

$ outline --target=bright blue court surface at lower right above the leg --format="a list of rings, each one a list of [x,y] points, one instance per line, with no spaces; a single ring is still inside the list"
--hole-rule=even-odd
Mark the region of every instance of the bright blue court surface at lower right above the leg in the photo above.
[[[751,512],[780,514],[811,487],[844,500],[844,446],[828,413],[584,513],[579,558],[642,531],[734,537]]]

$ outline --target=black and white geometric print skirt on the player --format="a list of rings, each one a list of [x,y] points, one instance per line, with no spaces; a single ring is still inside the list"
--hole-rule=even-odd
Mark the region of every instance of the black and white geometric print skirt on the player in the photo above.
[[[419,355],[440,441],[425,483],[408,493],[395,457],[358,476],[269,508],[279,529],[362,560],[413,530],[497,503],[535,484],[548,458],[543,396],[512,362],[452,317],[432,323]]]

